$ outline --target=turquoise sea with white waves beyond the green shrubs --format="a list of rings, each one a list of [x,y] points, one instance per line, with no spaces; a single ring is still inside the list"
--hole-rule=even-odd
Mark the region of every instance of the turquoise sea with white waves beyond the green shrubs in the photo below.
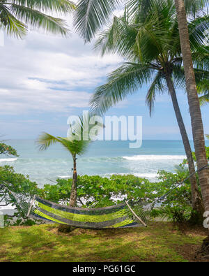
[[[7,143],[15,147],[20,157],[1,156],[0,166],[13,166],[17,173],[29,175],[40,187],[53,184],[58,177],[72,176],[72,157],[61,146],[54,145],[46,152],[39,152],[34,140]],[[209,146],[209,140],[206,143]],[[181,140],[144,140],[139,149],[130,149],[128,145],[128,141],[95,141],[88,152],[77,159],[79,175],[132,173],[154,181],[157,170],[174,172],[175,166],[185,158]]]

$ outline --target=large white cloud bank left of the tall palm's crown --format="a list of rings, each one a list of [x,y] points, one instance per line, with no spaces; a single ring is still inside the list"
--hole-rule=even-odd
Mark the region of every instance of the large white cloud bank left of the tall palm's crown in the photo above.
[[[99,57],[77,34],[68,38],[29,33],[5,39],[1,48],[1,115],[68,112],[87,108],[93,89],[118,66],[116,55]]]

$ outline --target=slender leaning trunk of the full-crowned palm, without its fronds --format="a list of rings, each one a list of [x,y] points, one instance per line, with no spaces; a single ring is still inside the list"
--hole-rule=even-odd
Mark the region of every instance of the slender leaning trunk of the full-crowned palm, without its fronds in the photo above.
[[[173,103],[173,108],[176,114],[176,119],[178,122],[178,126],[180,129],[180,134],[183,140],[183,145],[185,147],[185,153],[187,156],[188,166],[189,166],[189,174],[194,173],[195,167],[194,167],[194,160],[192,158],[192,150],[189,143],[189,138],[187,136],[187,131],[185,129],[185,124],[183,122],[183,117],[180,112],[180,108],[178,106],[178,100],[176,97],[176,91],[173,85],[173,80],[171,79],[171,74],[168,72],[166,73],[166,80],[167,80],[167,86],[169,88],[169,92],[171,94],[171,99]],[[199,194],[198,186],[196,183],[196,175],[192,175],[189,177],[190,184],[191,184],[191,191],[192,191],[192,208],[197,212],[196,222],[203,221],[203,203],[201,200],[201,196]],[[194,217],[193,217],[194,219]]]

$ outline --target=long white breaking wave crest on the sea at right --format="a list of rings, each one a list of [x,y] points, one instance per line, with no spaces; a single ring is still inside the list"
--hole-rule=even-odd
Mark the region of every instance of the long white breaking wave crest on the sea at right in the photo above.
[[[130,161],[138,160],[183,160],[185,155],[134,155],[132,157],[123,157],[123,159]]]

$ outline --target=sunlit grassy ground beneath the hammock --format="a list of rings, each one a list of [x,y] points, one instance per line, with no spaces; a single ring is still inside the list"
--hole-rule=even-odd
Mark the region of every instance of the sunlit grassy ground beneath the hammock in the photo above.
[[[199,261],[195,252],[206,235],[203,228],[162,222],[71,233],[59,233],[55,224],[13,226],[0,228],[0,261]]]

